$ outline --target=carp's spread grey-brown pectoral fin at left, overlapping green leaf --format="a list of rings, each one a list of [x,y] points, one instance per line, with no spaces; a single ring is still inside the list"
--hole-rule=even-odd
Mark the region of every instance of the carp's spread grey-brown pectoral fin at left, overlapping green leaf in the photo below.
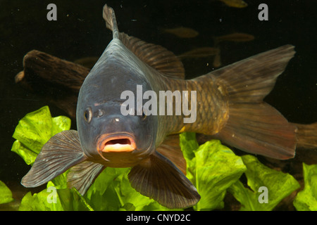
[[[42,147],[21,184],[27,188],[40,186],[86,159],[87,156],[80,147],[77,131],[62,131]]]

